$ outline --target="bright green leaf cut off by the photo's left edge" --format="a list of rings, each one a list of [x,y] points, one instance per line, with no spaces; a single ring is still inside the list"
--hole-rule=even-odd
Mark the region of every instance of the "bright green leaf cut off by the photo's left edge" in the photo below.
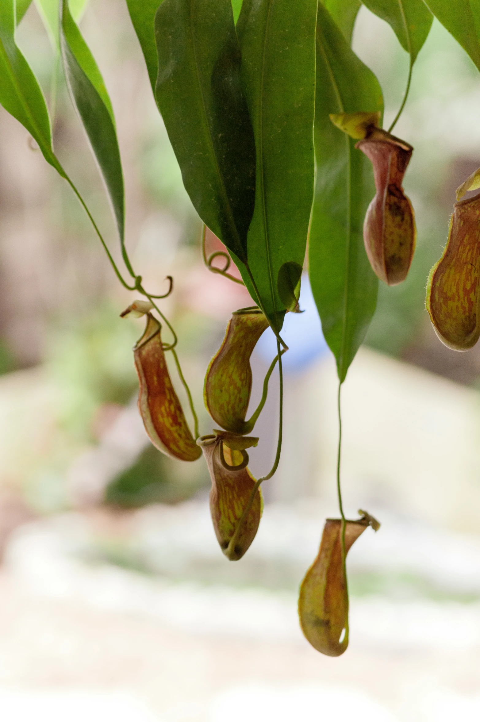
[[[53,152],[45,97],[15,43],[14,0],[0,0],[0,103],[35,139],[45,160],[66,178]]]

